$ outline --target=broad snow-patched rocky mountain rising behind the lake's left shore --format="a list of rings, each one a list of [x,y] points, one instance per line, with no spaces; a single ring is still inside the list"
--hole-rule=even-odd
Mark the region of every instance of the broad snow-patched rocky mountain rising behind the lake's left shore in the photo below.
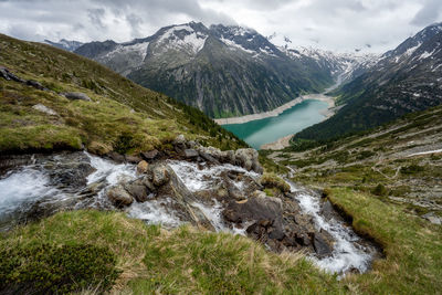
[[[313,59],[290,59],[240,27],[191,22],[127,43],[87,43],[75,52],[211,117],[270,110],[333,83],[333,74]]]

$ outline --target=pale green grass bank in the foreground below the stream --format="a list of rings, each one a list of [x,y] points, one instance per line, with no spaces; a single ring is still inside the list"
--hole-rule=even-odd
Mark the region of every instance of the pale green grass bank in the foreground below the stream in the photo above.
[[[349,287],[302,254],[270,253],[229,233],[166,231],[124,213],[62,212],[2,238],[1,249],[40,243],[109,249],[120,272],[113,288],[118,293],[343,294]]]

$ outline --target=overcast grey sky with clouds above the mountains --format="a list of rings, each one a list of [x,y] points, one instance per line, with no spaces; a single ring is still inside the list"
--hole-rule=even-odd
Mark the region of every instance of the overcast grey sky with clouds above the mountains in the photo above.
[[[442,21],[442,0],[0,0],[0,32],[19,39],[129,41],[201,21],[239,24],[293,45],[383,52]]]

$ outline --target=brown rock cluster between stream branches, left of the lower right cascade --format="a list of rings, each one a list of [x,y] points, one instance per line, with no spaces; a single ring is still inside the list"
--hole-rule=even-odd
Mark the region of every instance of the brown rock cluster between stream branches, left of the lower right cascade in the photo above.
[[[333,251],[330,235],[315,230],[312,220],[292,198],[260,193],[242,201],[231,200],[223,217],[229,222],[245,224],[249,236],[277,252],[308,249],[318,256],[326,256]]]

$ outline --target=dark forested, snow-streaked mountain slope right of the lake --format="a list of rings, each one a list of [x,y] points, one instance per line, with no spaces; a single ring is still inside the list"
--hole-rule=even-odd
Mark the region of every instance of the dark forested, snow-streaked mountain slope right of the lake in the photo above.
[[[442,24],[430,25],[385,53],[365,74],[340,87],[345,105],[328,120],[297,135],[329,139],[364,130],[442,103]]]

